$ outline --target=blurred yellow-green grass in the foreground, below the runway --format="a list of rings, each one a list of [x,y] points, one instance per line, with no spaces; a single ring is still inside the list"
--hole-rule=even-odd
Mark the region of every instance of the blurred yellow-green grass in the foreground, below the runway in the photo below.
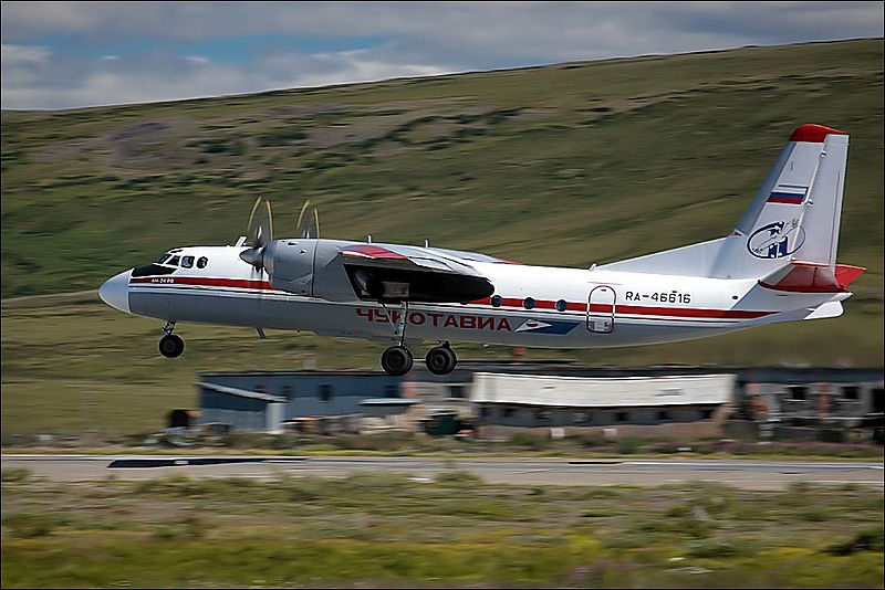
[[[829,509],[798,517],[809,505]],[[883,582],[882,493],[850,486],[27,480],[3,483],[2,512],[4,588]]]

